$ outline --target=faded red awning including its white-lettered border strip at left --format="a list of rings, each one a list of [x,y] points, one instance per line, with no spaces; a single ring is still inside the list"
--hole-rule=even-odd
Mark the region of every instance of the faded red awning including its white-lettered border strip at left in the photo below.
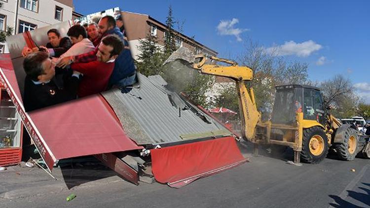
[[[142,148],[100,94],[26,113],[9,55],[0,55],[0,67],[0,80],[50,171],[59,159]]]

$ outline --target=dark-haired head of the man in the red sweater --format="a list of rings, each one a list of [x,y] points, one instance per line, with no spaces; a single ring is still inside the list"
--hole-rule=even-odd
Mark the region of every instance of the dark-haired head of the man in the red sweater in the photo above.
[[[117,35],[107,35],[100,42],[96,57],[100,62],[114,60],[121,53],[123,47],[123,42]]]

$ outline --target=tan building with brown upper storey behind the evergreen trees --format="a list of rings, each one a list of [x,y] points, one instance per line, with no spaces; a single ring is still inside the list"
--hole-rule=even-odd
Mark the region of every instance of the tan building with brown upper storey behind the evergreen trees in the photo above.
[[[127,11],[123,11],[121,14],[123,16],[131,53],[135,59],[137,59],[138,54],[140,54],[140,51],[138,50],[140,45],[139,40],[146,38],[148,34],[155,35],[158,39],[158,44],[164,45],[163,39],[167,31],[165,24],[147,14]],[[217,51],[201,44],[187,35],[179,32],[176,33],[178,34],[176,38],[176,45],[178,47],[189,48],[194,53],[206,53],[208,55],[217,56]]]

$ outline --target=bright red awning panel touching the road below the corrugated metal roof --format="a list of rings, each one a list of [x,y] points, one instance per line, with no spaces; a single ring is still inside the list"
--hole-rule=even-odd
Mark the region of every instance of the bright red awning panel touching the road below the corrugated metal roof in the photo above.
[[[155,179],[175,188],[247,162],[233,137],[152,149],[150,154]]]

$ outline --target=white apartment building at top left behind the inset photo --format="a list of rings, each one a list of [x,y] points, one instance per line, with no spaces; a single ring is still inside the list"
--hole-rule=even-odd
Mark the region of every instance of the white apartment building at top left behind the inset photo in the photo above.
[[[73,0],[0,0],[0,30],[6,26],[14,34],[57,24],[72,19]],[[0,53],[8,53],[4,42],[0,42]]]

